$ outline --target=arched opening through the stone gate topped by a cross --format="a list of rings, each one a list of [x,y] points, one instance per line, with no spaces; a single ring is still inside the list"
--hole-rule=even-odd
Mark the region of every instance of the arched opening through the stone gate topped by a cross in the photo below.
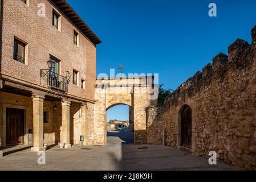
[[[133,112],[127,104],[113,104],[106,109],[107,143],[134,143]]]

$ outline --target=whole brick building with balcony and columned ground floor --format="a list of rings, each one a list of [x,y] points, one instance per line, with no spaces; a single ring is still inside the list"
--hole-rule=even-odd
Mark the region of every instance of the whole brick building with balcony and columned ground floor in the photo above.
[[[0,147],[93,144],[99,38],[64,0],[0,2]]]

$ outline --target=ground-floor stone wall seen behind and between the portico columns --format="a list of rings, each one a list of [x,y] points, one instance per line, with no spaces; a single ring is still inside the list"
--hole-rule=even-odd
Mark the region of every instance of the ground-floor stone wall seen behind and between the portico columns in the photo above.
[[[0,92],[0,138],[1,146],[5,146],[5,110],[6,107],[13,107],[25,110],[25,138],[24,143],[32,145],[33,131],[30,134],[29,129],[33,129],[33,109],[32,98]],[[56,110],[54,110],[56,106]],[[71,102],[70,105],[70,142],[79,144],[79,109],[81,105]],[[94,144],[94,104],[87,103],[86,119],[86,145]],[[60,101],[44,101],[43,110],[48,112],[48,123],[43,124],[44,144],[54,144],[60,142],[62,136],[62,105]]]

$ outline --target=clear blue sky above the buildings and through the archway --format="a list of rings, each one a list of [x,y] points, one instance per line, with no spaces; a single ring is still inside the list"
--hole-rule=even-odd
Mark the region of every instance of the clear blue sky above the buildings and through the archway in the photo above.
[[[176,89],[237,38],[251,42],[255,0],[67,0],[102,40],[97,74],[123,64],[124,73],[159,73]],[[217,5],[209,17],[208,5]],[[116,107],[127,113],[127,107]],[[119,119],[113,112],[110,118]],[[128,113],[127,113],[128,116]]]

